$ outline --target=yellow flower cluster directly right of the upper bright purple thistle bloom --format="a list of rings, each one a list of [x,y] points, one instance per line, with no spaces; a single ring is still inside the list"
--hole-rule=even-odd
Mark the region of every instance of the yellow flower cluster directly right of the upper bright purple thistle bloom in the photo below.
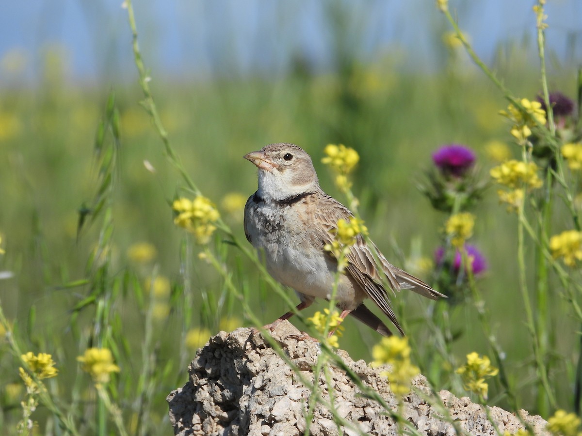
[[[544,184],[538,177],[538,166],[535,162],[508,160],[489,171],[491,177],[509,190],[498,190],[499,201],[508,204],[508,211],[517,210],[523,204],[524,188],[528,190],[541,188]]]

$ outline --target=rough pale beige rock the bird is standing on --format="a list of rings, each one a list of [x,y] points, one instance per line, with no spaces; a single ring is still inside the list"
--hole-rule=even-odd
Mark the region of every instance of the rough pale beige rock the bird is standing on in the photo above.
[[[250,328],[238,328],[230,334],[221,331],[198,349],[189,366],[187,383],[168,396],[169,416],[174,433],[186,435],[281,435],[294,436],[307,430],[306,417],[311,407],[313,420],[309,428],[314,436],[332,435],[398,435],[402,424],[386,414],[374,399],[362,392],[346,371],[328,365],[327,377],[318,374],[322,402],[310,404],[314,381],[313,368],[320,355],[319,344],[300,339],[301,333],[287,321],[279,323],[272,338],[289,360],[299,368],[296,373],[269,342]],[[392,411],[403,416],[417,431],[426,435],[455,435],[460,428],[468,434],[495,435],[495,427],[481,405],[469,398],[457,398],[448,391],[431,391],[420,374],[414,378],[413,392],[402,399],[392,394],[382,369],[372,369],[363,360],[354,362],[345,351],[338,356],[365,385],[374,389]],[[328,380],[331,383],[328,383]],[[330,392],[331,391],[331,396]],[[337,424],[324,405],[333,399]],[[441,408],[432,406],[441,401]],[[443,406],[448,409],[455,426],[443,419]],[[499,431],[516,433],[523,428],[521,420],[510,412],[492,407],[489,414]],[[545,434],[546,421],[520,411],[521,419],[535,434]]]

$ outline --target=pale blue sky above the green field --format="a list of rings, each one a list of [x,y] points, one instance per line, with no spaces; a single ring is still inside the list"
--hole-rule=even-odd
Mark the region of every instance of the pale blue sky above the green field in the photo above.
[[[435,40],[447,26],[433,0],[340,2],[345,36],[363,60],[392,51],[405,53],[411,65],[436,65]],[[27,75],[32,78],[41,62],[40,53],[59,45],[66,48],[74,78],[130,78],[131,40],[121,3],[4,1],[0,58],[15,49],[26,53]],[[325,68],[333,47],[326,9],[330,4],[329,0],[142,0],[135,1],[134,8],[148,65],[188,77],[217,71],[280,72],[292,55]],[[508,41],[529,38],[534,48],[533,4],[531,0],[450,2],[460,26],[485,60]],[[546,12],[548,47],[563,62],[570,41],[570,60],[574,65],[582,63],[582,1],[549,0]]]

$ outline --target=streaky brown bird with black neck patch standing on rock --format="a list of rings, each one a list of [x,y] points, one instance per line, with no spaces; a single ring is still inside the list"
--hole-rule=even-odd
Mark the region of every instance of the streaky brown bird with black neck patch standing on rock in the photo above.
[[[338,261],[324,247],[333,242],[338,220],[349,220],[354,215],[321,189],[310,155],[284,142],[269,144],[244,159],[258,167],[257,191],[244,207],[244,233],[269,274],[292,288],[300,299],[295,311],[285,313],[266,328],[273,330],[282,320],[310,306],[315,298],[329,301],[335,280],[335,302],[342,311],[341,319],[351,315],[386,337],[392,331],[364,305],[364,300],[371,299],[404,335],[384,283],[393,294],[410,289],[433,300],[446,298],[420,278],[389,263],[361,234],[350,246],[347,266],[336,279]]]

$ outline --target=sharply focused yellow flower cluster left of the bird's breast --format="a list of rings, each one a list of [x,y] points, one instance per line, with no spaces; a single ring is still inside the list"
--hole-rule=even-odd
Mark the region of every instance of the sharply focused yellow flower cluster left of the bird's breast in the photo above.
[[[217,208],[205,196],[198,195],[194,200],[179,198],[172,203],[178,215],[174,218],[176,226],[184,227],[196,237],[198,244],[208,244],[214,225],[220,218]]]

